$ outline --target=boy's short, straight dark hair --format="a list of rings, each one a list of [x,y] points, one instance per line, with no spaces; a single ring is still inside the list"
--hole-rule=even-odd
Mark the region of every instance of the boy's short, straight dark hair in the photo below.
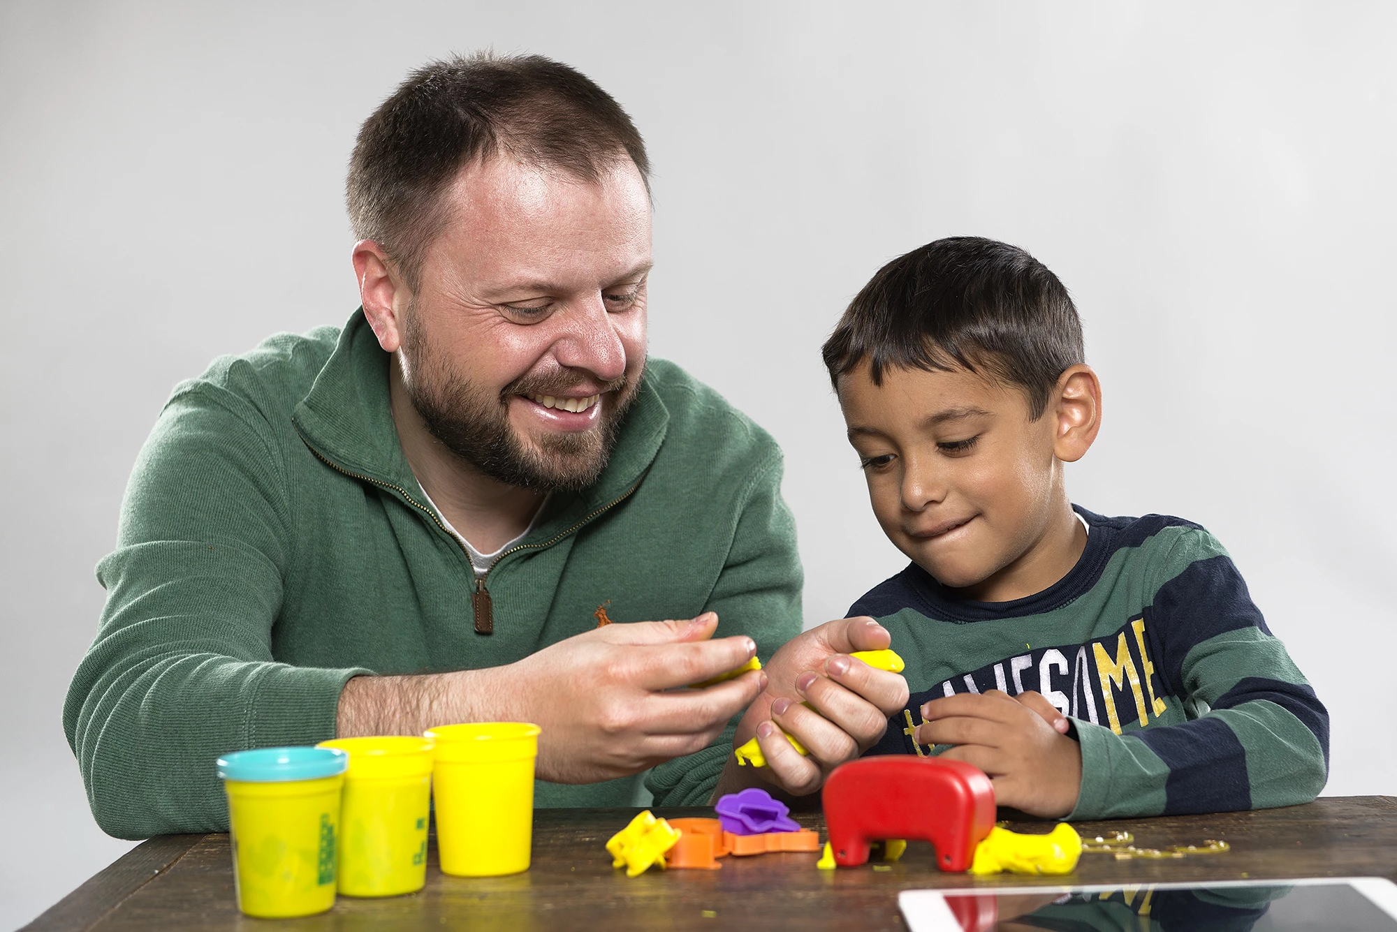
[[[936,240],[880,268],[821,354],[835,391],[863,359],[875,385],[888,366],[985,370],[1024,389],[1034,420],[1058,377],[1085,361],[1058,276],[1017,246],[978,236]]]

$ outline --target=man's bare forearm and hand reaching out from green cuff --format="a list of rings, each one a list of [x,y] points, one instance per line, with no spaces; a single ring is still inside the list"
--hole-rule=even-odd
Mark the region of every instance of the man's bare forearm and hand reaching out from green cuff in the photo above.
[[[750,671],[705,689],[678,689],[740,667],[752,638],[711,640],[718,615],[613,624],[490,670],[359,677],[339,699],[339,735],[420,734],[455,721],[532,721],[536,773],[597,783],[638,773],[712,744],[766,686]],[[673,691],[673,692],[666,692]],[[369,712],[376,705],[377,714]]]

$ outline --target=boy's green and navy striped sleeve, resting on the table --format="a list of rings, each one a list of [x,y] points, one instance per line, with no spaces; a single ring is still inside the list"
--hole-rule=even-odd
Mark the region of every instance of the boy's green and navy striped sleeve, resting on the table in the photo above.
[[[1210,534],[1189,530],[1178,572],[1144,610],[1165,692],[1189,721],[1115,734],[1074,720],[1081,792],[1069,819],[1234,812],[1309,802],[1329,774],[1329,713],[1266,628]]]

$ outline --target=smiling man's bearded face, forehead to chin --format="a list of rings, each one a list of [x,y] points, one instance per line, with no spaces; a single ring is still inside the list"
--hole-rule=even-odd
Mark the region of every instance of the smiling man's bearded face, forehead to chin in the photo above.
[[[585,488],[645,367],[650,198],[622,160],[598,183],[472,165],[446,194],[402,320],[400,364],[427,428],[485,474]]]

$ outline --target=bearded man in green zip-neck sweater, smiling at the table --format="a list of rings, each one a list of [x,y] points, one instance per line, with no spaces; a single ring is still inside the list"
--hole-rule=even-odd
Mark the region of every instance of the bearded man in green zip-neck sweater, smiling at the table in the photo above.
[[[365,123],[362,310],[177,386],[98,566],[64,727],[106,832],[225,829],[228,751],[453,721],[542,726],[538,805],[707,802],[775,696],[683,686],[799,632],[800,568],[775,442],[645,366],[647,173],[620,106],[539,57],[427,66]],[[784,679],[883,646],[831,624]],[[882,726],[852,689],[828,721]],[[852,756],[824,721],[819,765],[767,777]]]

